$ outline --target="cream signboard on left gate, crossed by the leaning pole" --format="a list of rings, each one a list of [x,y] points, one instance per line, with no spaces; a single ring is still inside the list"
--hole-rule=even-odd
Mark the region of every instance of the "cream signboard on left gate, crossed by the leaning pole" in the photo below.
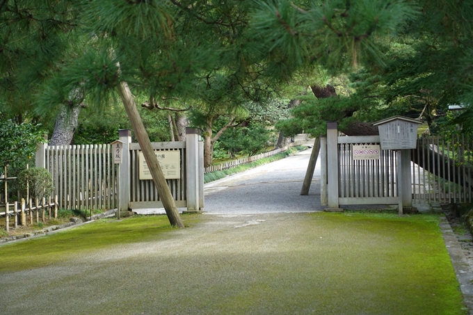
[[[163,170],[164,178],[179,179],[181,178],[181,153],[177,151],[154,151]],[[145,161],[143,152],[138,152],[138,163],[140,163],[138,171],[140,179],[152,179],[150,169]]]

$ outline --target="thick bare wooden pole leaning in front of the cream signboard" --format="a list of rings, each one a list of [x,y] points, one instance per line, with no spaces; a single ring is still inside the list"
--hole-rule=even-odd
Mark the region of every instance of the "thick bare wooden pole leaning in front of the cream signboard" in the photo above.
[[[120,86],[118,87],[118,94],[120,95],[123,105],[125,106],[131,126],[135,131],[135,136],[138,138],[138,143],[140,144],[143,156],[145,156],[145,161],[148,165],[148,168],[150,168],[154,185],[158,190],[161,202],[163,202],[164,209],[168,215],[169,223],[173,226],[184,227],[184,223],[182,223],[181,217],[179,216],[179,211],[177,211],[173,195],[170,193],[168,184],[164,178],[163,171],[161,170],[158,159],[154,154],[150,138],[147,134],[145,126],[143,125],[140,114],[136,109],[135,100],[131,95],[131,91],[126,82],[120,83]]]

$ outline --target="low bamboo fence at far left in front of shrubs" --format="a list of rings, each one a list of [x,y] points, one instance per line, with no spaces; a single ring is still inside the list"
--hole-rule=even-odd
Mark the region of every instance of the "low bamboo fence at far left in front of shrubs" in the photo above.
[[[33,218],[36,218],[36,223],[40,222],[40,217],[42,222],[46,220],[46,213],[48,219],[51,217],[58,217],[58,196],[54,197],[54,200],[51,200],[51,196],[42,198],[42,202],[39,202],[38,199],[33,200],[30,198],[29,202],[26,202],[22,198],[21,202],[7,202],[5,204],[5,211],[0,212],[0,216],[5,216],[5,229],[6,232],[10,230],[10,216],[13,220],[13,227],[16,229],[18,225],[26,225],[26,219],[29,218],[29,224],[33,225]],[[13,209],[10,210],[10,207]]]

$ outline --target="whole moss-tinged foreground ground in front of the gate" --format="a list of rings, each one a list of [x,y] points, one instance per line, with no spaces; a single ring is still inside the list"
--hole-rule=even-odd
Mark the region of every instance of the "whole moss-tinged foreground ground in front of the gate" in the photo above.
[[[467,314],[438,216],[183,218],[184,230],[165,216],[100,220],[1,246],[0,279],[14,270],[22,279],[34,270],[39,277],[38,267],[75,266],[68,261],[108,257],[113,248],[134,250],[90,266],[92,273],[80,263],[81,277],[71,268],[49,286],[24,280],[18,290],[27,298],[19,305],[10,299],[5,314],[31,314],[29,305],[51,314],[40,301],[53,287],[61,292],[56,304],[88,300],[61,314]],[[235,228],[257,218],[264,220]]]

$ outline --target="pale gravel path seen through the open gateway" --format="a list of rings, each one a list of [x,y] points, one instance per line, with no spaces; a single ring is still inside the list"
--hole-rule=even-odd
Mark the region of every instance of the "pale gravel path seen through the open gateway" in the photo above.
[[[321,211],[320,161],[309,195],[300,195],[312,150],[205,185],[206,213]]]

